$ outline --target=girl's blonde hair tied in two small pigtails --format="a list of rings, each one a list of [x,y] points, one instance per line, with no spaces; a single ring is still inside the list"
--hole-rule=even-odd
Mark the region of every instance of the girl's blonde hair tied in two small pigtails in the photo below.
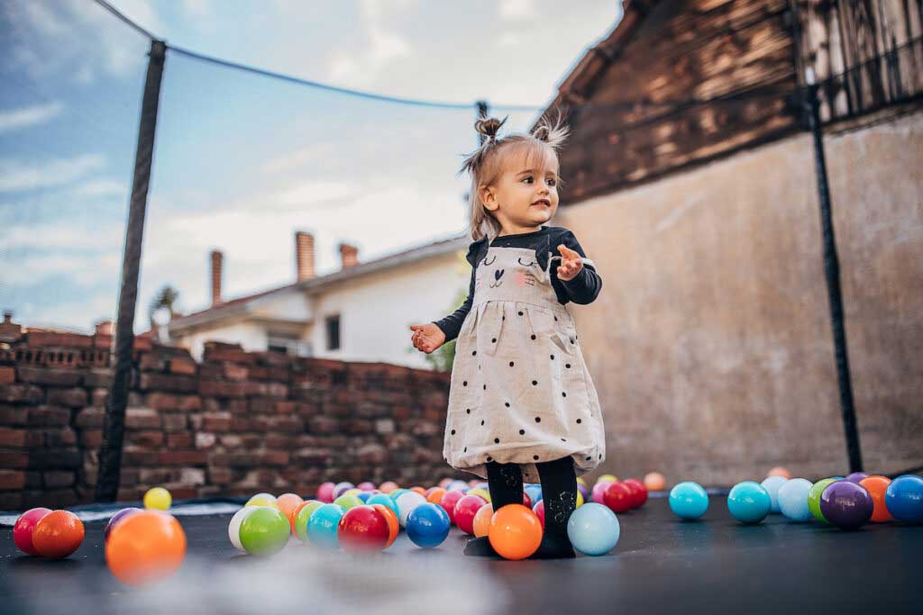
[[[563,145],[570,134],[570,129],[564,124],[564,112],[558,110],[557,119],[552,122],[545,114],[535,124],[529,134],[514,133],[497,138],[497,130],[506,123],[509,116],[501,122],[497,118],[478,120],[474,129],[485,135],[484,143],[472,153],[466,154],[462,163],[461,175],[468,171],[471,173],[471,192],[468,195],[470,212],[471,238],[477,241],[487,237],[493,241],[501,228],[499,221],[484,207],[481,201],[481,188],[492,185],[503,171],[504,158],[513,153],[525,151],[526,163],[529,160],[538,160],[539,166],[533,168],[557,167],[557,150]],[[559,173],[558,173],[559,174]],[[560,178],[557,184],[562,184]]]

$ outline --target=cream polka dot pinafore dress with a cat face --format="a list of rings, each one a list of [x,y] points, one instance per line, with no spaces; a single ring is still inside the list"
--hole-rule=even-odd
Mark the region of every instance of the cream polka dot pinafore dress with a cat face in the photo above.
[[[490,245],[477,262],[452,363],[443,445],[451,467],[486,478],[486,462],[517,463],[524,481],[539,482],[536,463],[569,455],[580,476],[603,462],[599,399],[551,285],[560,258],[548,254],[543,270],[533,249]]]

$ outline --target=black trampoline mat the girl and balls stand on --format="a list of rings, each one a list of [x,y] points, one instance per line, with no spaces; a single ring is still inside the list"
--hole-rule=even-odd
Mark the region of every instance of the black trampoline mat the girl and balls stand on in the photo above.
[[[171,579],[138,589],[106,567],[105,521],[86,523],[62,561],[20,553],[0,528],[3,613],[911,613],[923,612],[923,526],[843,531],[780,514],[744,526],[712,496],[699,521],[679,521],[664,498],[618,514],[621,537],[603,557],[507,562],[462,554],[454,527],[437,549],[402,532],[380,554],[322,551],[292,539],[258,559],[234,550],[231,514],[177,516],[188,541]]]

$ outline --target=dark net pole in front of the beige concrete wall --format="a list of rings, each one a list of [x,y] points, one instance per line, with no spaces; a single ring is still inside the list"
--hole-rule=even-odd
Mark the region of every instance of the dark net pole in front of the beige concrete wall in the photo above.
[[[808,84],[805,88],[807,96],[802,98],[802,102],[814,141],[814,171],[817,175],[817,193],[821,207],[823,272],[827,280],[827,298],[830,302],[833,354],[840,389],[840,409],[843,414],[846,454],[849,457],[849,471],[861,472],[862,451],[859,448],[856,407],[853,404],[853,384],[849,374],[849,353],[846,349],[843,291],[840,288],[840,260],[836,254],[836,237],[833,234],[830,185],[827,183],[827,161],[823,151],[823,131],[821,130],[821,103],[817,96],[819,86],[814,83],[814,71],[810,68],[806,71],[806,82]]]

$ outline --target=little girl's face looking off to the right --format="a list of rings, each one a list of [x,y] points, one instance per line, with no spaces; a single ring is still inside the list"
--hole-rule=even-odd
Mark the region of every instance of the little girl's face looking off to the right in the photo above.
[[[485,207],[509,232],[533,230],[545,224],[557,211],[557,168],[534,168],[524,153],[505,157],[503,172],[485,195]]]

